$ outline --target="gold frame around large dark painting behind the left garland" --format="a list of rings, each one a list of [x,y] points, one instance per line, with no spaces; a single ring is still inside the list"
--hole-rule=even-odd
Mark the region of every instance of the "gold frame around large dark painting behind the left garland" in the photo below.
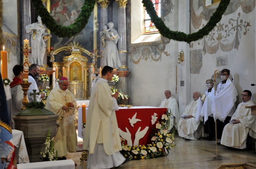
[[[50,6],[51,6],[51,3],[50,3],[50,0],[46,0],[46,2],[45,2],[45,6],[46,6],[46,9],[47,9],[47,11],[50,13],[51,11],[50,11]],[[95,5],[94,5],[94,25],[93,25],[93,27],[94,27],[94,44],[93,44],[93,50],[95,50],[95,49],[97,49],[97,31],[98,31],[98,25],[99,25],[99,23],[98,23],[98,5],[97,5],[97,2],[95,3]],[[48,33],[48,34],[51,34],[51,31],[47,28],[46,29],[46,32]],[[49,52],[50,51],[50,48],[51,48],[51,38],[49,38],[48,40],[47,40],[47,43],[46,43],[46,49],[47,49],[47,51]],[[58,48],[58,49],[56,49],[56,50],[54,50],[55,51],[55,54],[57,54],[58,52],[60,52],[60,51],[63,51],[64,50],[64,48],[66,48],[66,46],[62,46],[62,47],[60,47],[60,48]],[[83,49],[83,48],[82,48]],[[57,52],[58,51],[58,52]],[[56,53],[57,52],[57,53]],[[86,50],[86,49],[83,49],[83,50],[81,50],[81,52],[84,52],[84,53],[86,53],[88,56],[90,56],[90,52],[88,51],[88,50]]]

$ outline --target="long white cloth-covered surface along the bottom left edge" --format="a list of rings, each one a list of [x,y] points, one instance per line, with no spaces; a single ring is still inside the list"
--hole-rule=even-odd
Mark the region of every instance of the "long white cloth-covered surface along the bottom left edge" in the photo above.
[[[75,163],[72,159],[49,161],[49,162],[36,162],[28,164],[17,164],[18,169],[74,169]]]

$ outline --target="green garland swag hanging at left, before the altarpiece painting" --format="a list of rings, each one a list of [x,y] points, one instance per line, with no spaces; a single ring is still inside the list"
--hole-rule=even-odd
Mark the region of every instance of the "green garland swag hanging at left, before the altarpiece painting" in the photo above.
[[[31,0],[34,4],[35,9],[38,12],[38,15],[42,18],[42,22],[46,27],[53,32],[58,37],[72,37],[80,33],[84,29],[85,25],[88,23],[88,20],[91,16],[91,12],[94,10],[94,5],[96,0],[85,0],[81,9],[79,17],[76,18],[75,22],[69,26],[58,25],[53,17],[44,7],[42,0]]]

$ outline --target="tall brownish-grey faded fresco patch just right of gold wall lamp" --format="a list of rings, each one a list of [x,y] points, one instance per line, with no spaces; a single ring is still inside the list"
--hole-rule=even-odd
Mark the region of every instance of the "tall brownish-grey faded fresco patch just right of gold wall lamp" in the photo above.
[[[203,51],[202,49],[190,51],[190,73],[199,74],[203,63]]]

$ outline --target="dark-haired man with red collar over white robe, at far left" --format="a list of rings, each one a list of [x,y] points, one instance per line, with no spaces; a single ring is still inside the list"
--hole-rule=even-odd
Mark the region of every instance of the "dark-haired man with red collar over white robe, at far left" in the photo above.
[[[23,81],[23,65],[17,64],[12,69],[15,77],[12,79],[13,81],[10,83],[11,88],[11,96],[12,98],[8,100],[8,108],[10,112],[10,120],[13,123],[12,129],[15,129],[15,122],[13,120],[13,116],[21,111],[23,107],[22,100],[24,98],[22,86],[19,83]]]

